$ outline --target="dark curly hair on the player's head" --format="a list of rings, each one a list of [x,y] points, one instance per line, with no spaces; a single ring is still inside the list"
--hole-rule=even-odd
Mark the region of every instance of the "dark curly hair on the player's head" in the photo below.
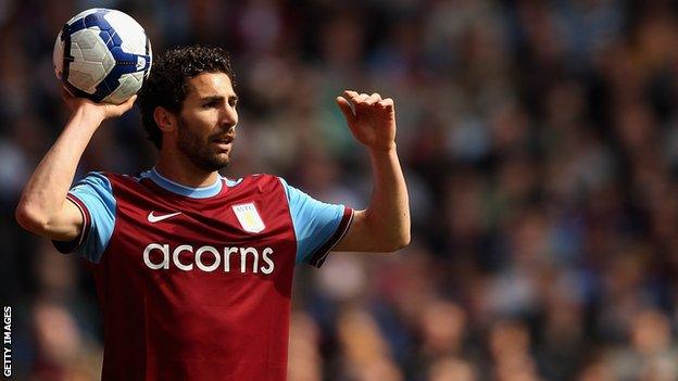
[[[235,86],[230,58],[221,48],[179,47],[166,51],[153,62],[151,74],[139,92],[138,102],[143,129],[159,150],[162,148],[162,132],[153,118],[155,107],[162,106],[175,114],[180,113],[188,94],[188,79],[202,73],[224,73]]]

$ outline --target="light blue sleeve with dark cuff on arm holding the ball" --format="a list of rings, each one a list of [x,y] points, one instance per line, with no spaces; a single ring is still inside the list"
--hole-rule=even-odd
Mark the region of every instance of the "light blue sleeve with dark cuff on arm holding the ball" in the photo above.
[[[101,173],[89,173],[66,195],[83,214],[80,237],[73,241],[52,241],[60,252],[78,252],[99,263],[115,226],[115,198],[111,181]]]

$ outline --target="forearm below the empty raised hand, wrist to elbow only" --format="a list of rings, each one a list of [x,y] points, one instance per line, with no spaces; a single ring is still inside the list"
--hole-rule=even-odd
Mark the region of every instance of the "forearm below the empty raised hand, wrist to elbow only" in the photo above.
[[[380,246],[395,250],[410,242],[407,187],[395,148],[369,150],[374,188],[365,223]]]

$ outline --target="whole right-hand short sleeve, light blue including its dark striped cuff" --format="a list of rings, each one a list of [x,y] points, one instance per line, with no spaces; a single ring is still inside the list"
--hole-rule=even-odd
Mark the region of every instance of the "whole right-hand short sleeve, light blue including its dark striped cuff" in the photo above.
[[[353,209],[317,201],[290,187],[281,178],[280,182],[285,188],[294,227],[297,264],[307,263],[321,267],[331,249],[349,230]]]

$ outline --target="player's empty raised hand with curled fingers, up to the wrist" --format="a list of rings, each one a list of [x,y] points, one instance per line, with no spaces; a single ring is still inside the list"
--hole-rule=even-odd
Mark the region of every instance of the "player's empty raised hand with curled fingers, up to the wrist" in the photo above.
[[[368,96],[346,90],[341,97],[337,97],[337,104],[357,141],[372,150],[395,149],[395,111],[392,99],[381,99],[376,92]]]

